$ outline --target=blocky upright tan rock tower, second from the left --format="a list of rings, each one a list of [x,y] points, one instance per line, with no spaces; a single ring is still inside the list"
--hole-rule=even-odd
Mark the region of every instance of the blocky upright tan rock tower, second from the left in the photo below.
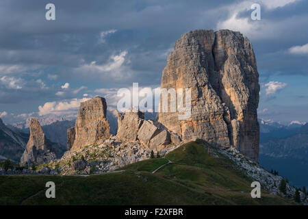
[[[103,97],[97,96],[80,104],[75,124],[70,130],[68,147],[70,150],[89,146],[102,138],[110,137],[110,125],[106,118],[107,103]]]

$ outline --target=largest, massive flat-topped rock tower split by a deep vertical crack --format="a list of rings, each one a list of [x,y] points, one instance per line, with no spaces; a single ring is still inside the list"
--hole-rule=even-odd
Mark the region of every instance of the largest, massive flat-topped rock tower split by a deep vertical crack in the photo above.
[[[159,113],[159,123],[184,141],[201,138],[259,155],[259,74],[251,42],[240,32],[196,30],[175,43],[162,88],[191,88],[192,114]]]

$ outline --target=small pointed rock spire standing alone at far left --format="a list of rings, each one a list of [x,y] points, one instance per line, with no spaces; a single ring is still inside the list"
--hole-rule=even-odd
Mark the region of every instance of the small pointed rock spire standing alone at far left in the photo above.
[[[21,157],[21,164],[44,164],[59,159],[65,149],[61,144],[52,143],[46,138],[37,118],[30,120],[30,136]]]

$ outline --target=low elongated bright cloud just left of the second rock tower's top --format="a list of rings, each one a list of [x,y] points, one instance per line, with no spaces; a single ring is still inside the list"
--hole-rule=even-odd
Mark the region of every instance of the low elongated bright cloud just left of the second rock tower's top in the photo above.
[[[88,98],[70,99],[68,101],[53,101],[44,103],[43,106],[38,106],[38,115],[44,116],[47,114],[67,114],[72,110],[77,110],[81,102],[88,101]]]

